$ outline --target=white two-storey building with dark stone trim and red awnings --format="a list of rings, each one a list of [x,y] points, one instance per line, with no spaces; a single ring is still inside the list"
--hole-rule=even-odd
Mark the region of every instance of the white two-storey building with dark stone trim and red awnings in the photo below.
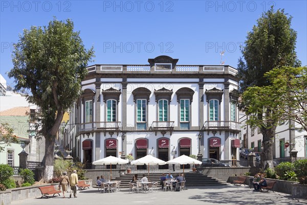
[[[169,56],[148,63],[87,67],[64,131],[73,156],[238,159],[237,70],[177,65]]]

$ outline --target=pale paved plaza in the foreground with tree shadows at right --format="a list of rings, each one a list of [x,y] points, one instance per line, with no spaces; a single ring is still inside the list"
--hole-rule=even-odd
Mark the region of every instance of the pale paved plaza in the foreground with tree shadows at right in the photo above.
[[[130,193],[123,189],[115,193],[99,193],[90,188],[77,192],[77,198],[62,196],[29,198],[11,204],[307,204],[306,199],[294,199],[291,195],[272,192],[253,192],[253,189],[234,185],[188,187],[180,192],[164,192],[162,189],[150,193]]]

